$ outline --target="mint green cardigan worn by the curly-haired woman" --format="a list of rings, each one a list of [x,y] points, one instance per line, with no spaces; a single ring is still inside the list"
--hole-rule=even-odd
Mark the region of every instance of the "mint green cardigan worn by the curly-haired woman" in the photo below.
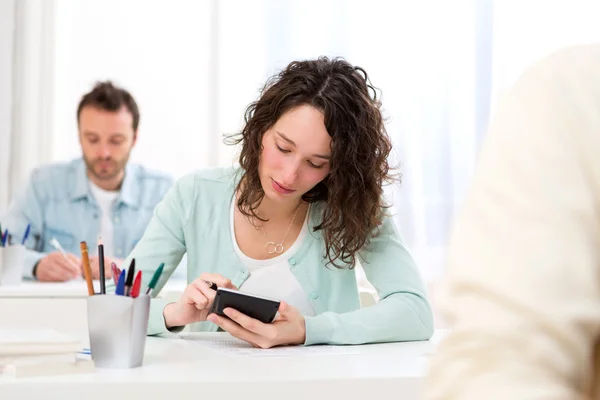
[[[219,273],[237,287],[249,277],[236,255],[229,212],[240,170],[213,168],[181,178],[154,211],[131,258],[143,271],[146,287],[160,263],[165,269],[154,296],[167,282],[187,252],[188,283],[203,272]],[[433,316],[415,263],[391,218],[383,221],[378,236],[361,252],[361,264],[380,301],[360,308],[354,270],[326,266],[318,204],[311,207],[309,231],[288,263],[315,310],[306,319],[306,345],[360,344],[426,340],[433,334]],[[277,282],[273,282],[274,285]],[[166,301],[152,299],[148,334],[167,332],[163,318]],[[210,322],[193,324],[192,331],[216,331]]]

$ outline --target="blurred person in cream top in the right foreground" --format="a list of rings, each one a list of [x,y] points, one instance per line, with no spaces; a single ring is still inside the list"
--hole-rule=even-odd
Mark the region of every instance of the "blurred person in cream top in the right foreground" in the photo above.
[[[600,45],[501,99],[439,300],[427,399],[600,399]]]

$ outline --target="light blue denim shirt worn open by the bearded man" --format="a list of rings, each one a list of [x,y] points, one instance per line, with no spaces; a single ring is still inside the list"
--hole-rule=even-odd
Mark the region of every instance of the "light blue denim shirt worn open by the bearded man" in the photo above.
[[[114,254],[124,258],[144,234],[154,207],[160,202],[173,180],[166,174],[128,163],[125,178],[111,219],[114,229]],[[90,254],[95,254],[102,211],[91,194],[86,166],[82,159],[36,168],[21,196],[15,199],[0,218],[13,243],[21,242],[27,224],[30,235],[25,243],[23,277],[33,278],[33,268],[47,253],[55,251],[50,239],[55,237],[69,253],[80,255],[79,243],[85,240]]]

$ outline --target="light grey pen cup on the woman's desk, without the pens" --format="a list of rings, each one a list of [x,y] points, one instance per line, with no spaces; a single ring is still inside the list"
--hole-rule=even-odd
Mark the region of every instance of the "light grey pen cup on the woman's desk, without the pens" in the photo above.
[[[135,368],[144,361],[150,296],[87,299],[92,359],[98,368]]]

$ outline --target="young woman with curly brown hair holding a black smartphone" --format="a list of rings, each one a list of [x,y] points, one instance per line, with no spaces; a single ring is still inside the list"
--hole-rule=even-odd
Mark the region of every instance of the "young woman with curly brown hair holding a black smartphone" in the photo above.
[[[341,59],[292,62],[246,111],[239,166],[179,180],[131,258],[158,292],[182,256],[181,298],[153,299],[149,334],[221,328],[257,347],[425,340],[433,318],[418,270],[386,214],[391,150],[366,72]],[[360,308],[360,260],[380,301]],[[208,315],[220,287],[281,299],[261,323]]]

